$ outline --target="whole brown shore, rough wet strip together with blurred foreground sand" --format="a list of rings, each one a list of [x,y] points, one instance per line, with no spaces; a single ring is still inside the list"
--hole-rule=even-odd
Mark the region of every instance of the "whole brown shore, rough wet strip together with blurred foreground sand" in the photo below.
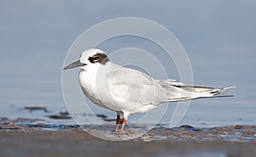
[[[52,125],[0,118],[0,156],[255,156],[256,126],[195,128]],[[86,132],[84,132],[86,131]],[[103,140],[97,137],[117,141]],[[126,141],[119,141],[126,140]]]

